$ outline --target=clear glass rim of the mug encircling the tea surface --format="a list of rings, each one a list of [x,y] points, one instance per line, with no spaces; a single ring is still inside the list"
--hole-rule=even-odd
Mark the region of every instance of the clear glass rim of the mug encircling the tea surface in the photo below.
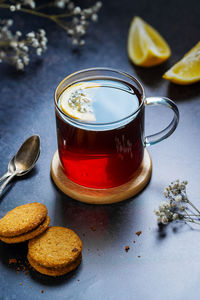
[[[89,71],[110,71],[110,72],[115,72],[115,73],[118,73],[118,74],[121,74],[121,75],[124,75],[125,77],[128,77],[129,79],[133,80],[141,89],[142,91],[142,94],[141,94],[141,103],[140,105],[138,106],[138,108],[132,112],[130,115],[122,118],[122,119],[119,119],[117,121],[113,121],[113,122],[105,122],[105,123],[91,123],[91,122],[86,122],[86,121],[82,121],[82,120],[78,120],[78,119],[74,119],[73,117],[70,117],[68,114],[66,114],[65,112],[62,111],[62,109],[58,106],[58,103],[57,103],[57,92],[58,92],[58,89],[60,88],[60,86],[69,78],[73,77],[74,75],[77,75],[77,74],[81,74],[81,73],[84,73],[84,72],[89,72]],[[73,83],[72,83],[73,84]],[[67,86],[66,86],[67,87]],[[62,93],[62,92],[61,92]],[[60,94],[61,94],[60,93]],[[140,83],[140,81],[138,79],[136,79],[134,76],[130,75],[129,73],[127,72],[124,72],[122,70],[117,70],[117,69],[112,69],[112,68],[104,68],[104,67],[95,67],[95,68],[87,68],[87,69],[81,69],[79,71],[76,71],[76,72],[73,72],[71,73],[70,75],[66,76],[59,84],[58,86],[56,87],[55,89],[55,92],[54,92],[54,104],[55,104],[55,107],[56,109],[58,109],[58,111],[61,113],[61,115],[64,115],[65,118],[67,118],[68,121],[70,121],[70,123],[74,123],[78,126],[87,126],[87,127],[93,127],[93,128],[97,128],[99,126],[114,126],[115,124],[120,124],[121,122],[124,122],[124,121],[127,121],[129,119],[131,119],[135,114],[137,114],[141,108],[143,107],[144,105],[144,101],[145,101],[145,92],[144,92],[144,88],[142,86],[142,84]],[[129,123],[129,122],[127,122]]]

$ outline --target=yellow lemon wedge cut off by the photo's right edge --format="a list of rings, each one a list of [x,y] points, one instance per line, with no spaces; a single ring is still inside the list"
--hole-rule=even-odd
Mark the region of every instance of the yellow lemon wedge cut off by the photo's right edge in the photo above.
[[[177,84],[192,84],[200,80],[200,42],[169,69],[163,78]]]

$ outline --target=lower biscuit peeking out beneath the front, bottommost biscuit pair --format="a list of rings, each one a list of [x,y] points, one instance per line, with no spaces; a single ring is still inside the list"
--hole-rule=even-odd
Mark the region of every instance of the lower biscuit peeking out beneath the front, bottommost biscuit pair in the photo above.
[[[30,265],[39,273],[48,275],[48,276],[61,276],[61,275],[65,275],[65,274],[71,272],[72,270],[75,270],[81,263],[82,255],[80,254],[74,262],[72,262],[71,264],[69,264],[63,268],[46,268],[44,266],[37,264],[34,260],[32,260],[29,257],[29,255],[27,258],[28,258]]]

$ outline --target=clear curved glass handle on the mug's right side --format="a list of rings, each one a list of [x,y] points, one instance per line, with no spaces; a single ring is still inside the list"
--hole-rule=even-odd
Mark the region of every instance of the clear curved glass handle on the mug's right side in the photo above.
[[[166,139],[168,136],[170,136],[174,132],[174,130],[176,129],[176,127],[178,125],[179,111],[178,111],[178,107],[172,100],[170,100],[166,97],[146,98],[145,105],[158,105],[158,104],[165,105],[165,106],[171,108],[174,112],[174,117],[173,117],[173,120],[171,121],[171,123],[165,129],[161,130],[158,133],[146,136],[144,139],[145,146],[151,146],[151,145],[154,145],[154,144],[159,143],[162,140]]]

